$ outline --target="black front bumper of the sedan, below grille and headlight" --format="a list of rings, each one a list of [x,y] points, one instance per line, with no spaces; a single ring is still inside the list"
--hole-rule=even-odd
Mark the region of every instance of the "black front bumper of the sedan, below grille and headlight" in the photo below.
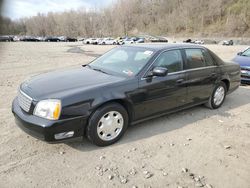
[[[46,142],[58,142],[66,139],[83,136],[87,124],[87,117],[74,117],[63,120],[51,121],[43,119],[23,111],[17,101],[12,103],[12,112],[16,124],[29,135]],[[56,139],[55,135],[65,132],[74,132],[69,138]]]

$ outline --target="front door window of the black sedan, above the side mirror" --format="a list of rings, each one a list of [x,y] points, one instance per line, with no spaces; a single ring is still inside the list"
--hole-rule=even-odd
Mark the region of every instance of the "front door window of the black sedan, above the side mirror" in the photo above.
[[[168,72],[178,72],[182,70],[182,56],[180,50],[163,52],[154,64],[154,67],[164,67]]]

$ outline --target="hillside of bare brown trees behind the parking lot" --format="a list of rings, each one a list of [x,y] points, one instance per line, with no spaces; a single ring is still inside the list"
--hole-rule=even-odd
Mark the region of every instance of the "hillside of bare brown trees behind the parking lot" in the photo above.
[[[250,0],[117,0],[106,8],[0,17],[0,34],[250,36]]]

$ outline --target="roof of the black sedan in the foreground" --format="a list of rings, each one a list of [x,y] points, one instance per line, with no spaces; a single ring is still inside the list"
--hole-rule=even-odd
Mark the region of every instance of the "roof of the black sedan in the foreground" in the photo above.
[[[152,49],[152,50],[167,50],[172,48],[203,48],[205,47],[197,44],[182,44],[182,43],[176,43],[176,44],[155,44],[155,43],[144,43],[144,44],[129,44],[124,45],[125,47],[141,47],[146,49]]]

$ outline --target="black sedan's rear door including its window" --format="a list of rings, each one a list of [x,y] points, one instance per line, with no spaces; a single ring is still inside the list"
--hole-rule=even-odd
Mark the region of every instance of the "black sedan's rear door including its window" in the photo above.
[[[185,49],[187,103],[208,100],[217,79],[216,64],[203,48]]]

